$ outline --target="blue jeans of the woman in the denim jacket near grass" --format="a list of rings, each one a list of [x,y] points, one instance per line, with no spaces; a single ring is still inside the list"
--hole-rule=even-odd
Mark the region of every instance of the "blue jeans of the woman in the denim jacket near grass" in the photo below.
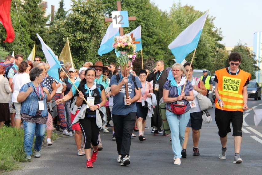
[[[30,123],[23,121],[24,123],[24,148],[27,156],[32,154],[33,140],[35,135],[34,150],[40,151],[42,142],[45,137],[46,124]]]

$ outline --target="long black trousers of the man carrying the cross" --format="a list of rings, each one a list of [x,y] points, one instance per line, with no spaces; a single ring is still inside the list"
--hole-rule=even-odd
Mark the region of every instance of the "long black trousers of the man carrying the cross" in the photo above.
[[[136,122],[136,112],[127,115],[113,114],[114,129],[117,142],[117,153],[122,155],[121,159],[126,155],[129,156],[131,146],[131,135]]]

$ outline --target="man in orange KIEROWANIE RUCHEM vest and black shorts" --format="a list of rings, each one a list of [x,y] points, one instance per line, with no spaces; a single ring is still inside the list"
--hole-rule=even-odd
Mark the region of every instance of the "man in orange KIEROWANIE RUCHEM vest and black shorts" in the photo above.
[[[229,55],[228,62],[230,66],[217,70],[214,79],[216,82],[215,121],[222,145],[219,158],[226,159],[227,134],[231,132],[231,121],[235,146],[233,163],[241,163],[243,161],[239,153],[242,142],[243,111],[248,108],[247,85],[251,75],[238,68],[241,63],[239,53],[232,52]]]

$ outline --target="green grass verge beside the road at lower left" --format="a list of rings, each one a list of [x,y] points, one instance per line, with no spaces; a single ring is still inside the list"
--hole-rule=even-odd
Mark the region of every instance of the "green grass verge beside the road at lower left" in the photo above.
[[[56,140],[60,135],[60,132],[52,133],[51,140]],[[0,173],[20,169],[20,162],[27,161],[25,157],[24,129],[2,127],[0,129]]]

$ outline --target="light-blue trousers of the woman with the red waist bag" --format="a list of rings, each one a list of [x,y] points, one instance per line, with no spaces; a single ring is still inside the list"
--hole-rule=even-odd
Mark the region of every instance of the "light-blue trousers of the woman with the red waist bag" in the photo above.
[[[185,129],[190,118],[190,110],[187,113],[181,114],[179,120],[177,115],[172,112],[166,110],[165,114],[171,131],[174,157],[181,158],[182,144],[185,139]]]

